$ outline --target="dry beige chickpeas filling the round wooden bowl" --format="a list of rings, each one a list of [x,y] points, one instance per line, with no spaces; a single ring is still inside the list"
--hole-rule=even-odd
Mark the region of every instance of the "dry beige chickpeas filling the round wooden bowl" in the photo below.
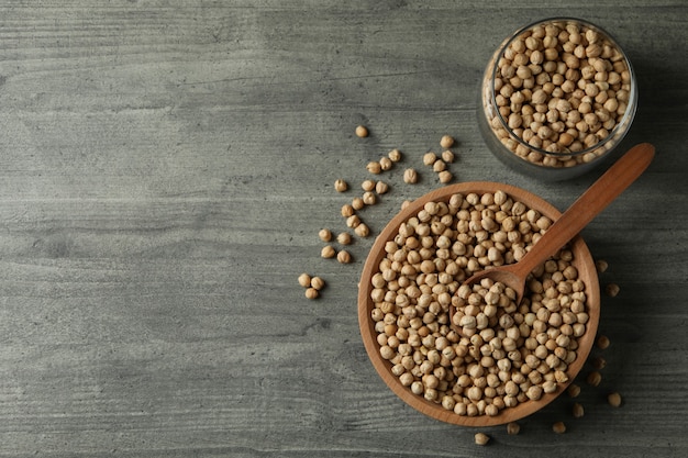
[[[428,202],[399,226],[370,297],[380,355],[402,386],[477,416],[536,401],[568,381],[588,322],[570,249],[532,272],[520,304],[491,280],[462,286],[489,266],[519,261],[551,224],[497,191]]]

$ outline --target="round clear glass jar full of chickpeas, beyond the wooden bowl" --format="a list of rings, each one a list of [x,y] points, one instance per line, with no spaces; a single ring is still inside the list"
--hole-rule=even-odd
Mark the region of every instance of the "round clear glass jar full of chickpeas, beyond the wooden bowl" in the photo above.
[[[517,171],[566,180],[602,163],[637,105],[633,68],[617,42],[578,19],[546,19],[508,37],[487,65],[478,125]]]

